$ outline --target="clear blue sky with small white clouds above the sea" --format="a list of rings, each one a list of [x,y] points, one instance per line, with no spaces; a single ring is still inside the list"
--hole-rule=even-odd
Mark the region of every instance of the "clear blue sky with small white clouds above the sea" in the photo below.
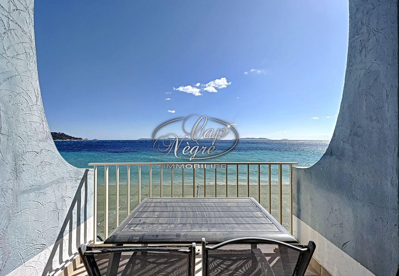
[[[51,131],[150,138],[166,120],[201,114],[237,124],[240,137],[331,138],[346,0],[110,3],[35,2]]]

